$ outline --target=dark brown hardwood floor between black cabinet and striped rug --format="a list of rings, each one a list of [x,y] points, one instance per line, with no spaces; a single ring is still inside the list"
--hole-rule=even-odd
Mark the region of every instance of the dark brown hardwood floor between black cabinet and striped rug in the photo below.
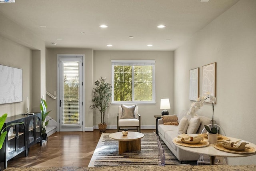
[[[141,130],[142,133],[153,131],[155,130]],[[116,129],[106,130],[106,133],[112,132],[116,132]],[[33,145],[27,157],[21,153],[8,161],[7,167],[87,167],[100,135],[99,130],[56,132],[48,137],[48,143]]]

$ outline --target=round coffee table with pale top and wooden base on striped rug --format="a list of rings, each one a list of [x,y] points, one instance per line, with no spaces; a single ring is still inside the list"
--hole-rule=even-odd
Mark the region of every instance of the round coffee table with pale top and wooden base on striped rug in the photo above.
[[[111,133],[109,137],[118,140],[119,154],[122,154],[126,151],[140,151],[140,139],[144,137],[144,134],[131,131],[124,136],[122,132],[115,132]]]

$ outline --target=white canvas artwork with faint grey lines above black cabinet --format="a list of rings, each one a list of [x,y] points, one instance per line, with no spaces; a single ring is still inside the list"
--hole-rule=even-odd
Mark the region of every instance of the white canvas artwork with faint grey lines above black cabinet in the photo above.
[[[0,65],[0,104],[22,101],[22,69]]]

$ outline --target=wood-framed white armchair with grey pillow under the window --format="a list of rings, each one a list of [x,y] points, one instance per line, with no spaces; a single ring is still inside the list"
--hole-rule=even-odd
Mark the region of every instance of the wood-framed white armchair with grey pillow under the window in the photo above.
[[[118,106],[117,131],[119,132],[120,129],[136,129],[140,132],[140,114],[138,114],[138,105]]]

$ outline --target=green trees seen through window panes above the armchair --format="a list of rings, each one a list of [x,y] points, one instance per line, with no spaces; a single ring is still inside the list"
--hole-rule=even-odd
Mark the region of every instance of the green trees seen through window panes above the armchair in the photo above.
[[[153,101],[153,66],[114,66],[114,101]]]

